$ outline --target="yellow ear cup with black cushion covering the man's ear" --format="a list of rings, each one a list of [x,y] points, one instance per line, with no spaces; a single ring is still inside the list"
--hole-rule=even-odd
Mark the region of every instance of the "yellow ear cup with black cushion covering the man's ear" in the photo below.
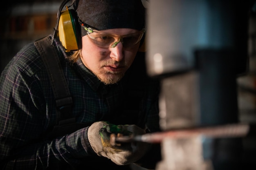
[[[61,12],[58,36],[66,52],[81,49],[81,26],[74,9],[67,9]]]

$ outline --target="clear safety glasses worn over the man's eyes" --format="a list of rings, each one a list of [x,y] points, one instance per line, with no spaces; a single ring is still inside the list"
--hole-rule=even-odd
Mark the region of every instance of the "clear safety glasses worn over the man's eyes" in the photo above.
[[[125,49],[129,49],[135,44],[137,44],[145,33],[145,29],[142,29],[141,31],[137,31],[136,33],[118,36],[92,29],[85,23],[81,22],[81,20],[79,20],[79,22],[82,28],[85,29],[85,31],[87,31],[87,35],[90,38],[90,40],[92,40],[92,42],[97,46],[103,48],[114,48],[115,46],[117,46],[119,42],[121,42]]]

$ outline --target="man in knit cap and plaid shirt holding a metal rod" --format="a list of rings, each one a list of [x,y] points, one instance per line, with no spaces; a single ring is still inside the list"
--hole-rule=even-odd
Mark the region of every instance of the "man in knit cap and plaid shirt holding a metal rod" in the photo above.
[[[158,144],[110,143],[113,134],[159,131],[158,82],[146,76],[138,52],[145,33],[141,0],[76,0],[74,9],[81,49],[65,52],[58,36],[52,46],[75,122],[56,126],[54,73],[47,75],[36,43],[28,44],[0,77],[1,169],[128,170],[132,163],[153,169]]]

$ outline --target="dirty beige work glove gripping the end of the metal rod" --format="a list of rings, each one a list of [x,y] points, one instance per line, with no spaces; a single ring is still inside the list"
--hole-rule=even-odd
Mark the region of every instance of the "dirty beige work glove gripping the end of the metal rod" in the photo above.
[[[150,148],[150,144],[137,141],[113,146],[110,144],[111,134],[135,136],[145,134],[145,131],[136,125],[114,125],[106,121],[95,122],[88,128],[88,140],[94,152],[117,165],[135,163]]]

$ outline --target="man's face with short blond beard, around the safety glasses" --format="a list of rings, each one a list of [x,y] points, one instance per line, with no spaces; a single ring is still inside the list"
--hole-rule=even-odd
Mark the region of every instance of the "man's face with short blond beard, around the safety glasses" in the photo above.
[[[138,32],[135,29],[108,29],[100,31],[105,35],[124,36]],[[115,40],[115,42],[118,41]],[[124,48],[119,42],[115,47],[102,47],[85,35],[82,37],[81,60],[105,84],[117,83],[132,64],[139,49],[139,43]]]

